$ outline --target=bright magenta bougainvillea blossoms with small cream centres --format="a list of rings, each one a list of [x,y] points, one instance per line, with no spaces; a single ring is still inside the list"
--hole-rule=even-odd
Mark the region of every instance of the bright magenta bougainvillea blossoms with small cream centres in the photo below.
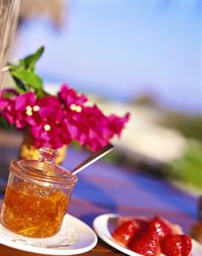
[[[129,115],[105,116],[96,104],[87,106],[85,94],[62,85],[56,96],[37,98],[34,92],[0,92],[0,116],[15,128],[28,128],[33,144],[57,149],[79,141],[92,151],[105,146],[128,122]],[[9,97],[8,97],[9,95]]]

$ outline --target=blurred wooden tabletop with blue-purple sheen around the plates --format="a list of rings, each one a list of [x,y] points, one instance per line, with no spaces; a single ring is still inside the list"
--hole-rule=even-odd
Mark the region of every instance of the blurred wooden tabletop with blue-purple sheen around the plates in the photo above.
[[[8,164],[17,157],[21,135],[0,130],[0,185],[3,188],[8,177]],[[71,170],[87,157],[85,151],[69,148],[63,167]],[[161,215],[178,223],[189,233],[197,220],[197,197],[175,188],[154,176],[99,160],[80,172],[74,189],[68,213],[79,217],[92,226],[95,217],[104,213],[123,213],[128,215]],[[3,256],[42,255],[27,253],[0,245]],[[82,255],[123,255],[98,240],[96,247]]]

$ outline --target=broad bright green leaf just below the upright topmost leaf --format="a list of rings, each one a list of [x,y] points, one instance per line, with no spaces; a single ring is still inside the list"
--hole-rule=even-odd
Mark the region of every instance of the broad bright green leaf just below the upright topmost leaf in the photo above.
[[[16,70],[12,72],[13,76],[28,87],[32,87],[34,90],[42,89],[43,81],[38,74],[28,72],[27,70]]]

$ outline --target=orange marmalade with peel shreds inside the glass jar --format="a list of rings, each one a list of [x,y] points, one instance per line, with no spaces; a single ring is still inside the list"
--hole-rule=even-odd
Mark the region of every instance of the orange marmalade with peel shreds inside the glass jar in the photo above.
[[[1,221],[19,235],[45,238],[55,235],[62,225],[70,194],[57,188],[29,182],[8,185]]]

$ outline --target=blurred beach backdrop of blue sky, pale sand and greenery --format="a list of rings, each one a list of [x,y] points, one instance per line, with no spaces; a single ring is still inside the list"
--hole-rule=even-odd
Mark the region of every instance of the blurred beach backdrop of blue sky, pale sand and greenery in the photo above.
[[[67,82],[131,112],[107,161],[202,193],[200,0],[22,1],[11,60],[41,45],[48,91]]]

